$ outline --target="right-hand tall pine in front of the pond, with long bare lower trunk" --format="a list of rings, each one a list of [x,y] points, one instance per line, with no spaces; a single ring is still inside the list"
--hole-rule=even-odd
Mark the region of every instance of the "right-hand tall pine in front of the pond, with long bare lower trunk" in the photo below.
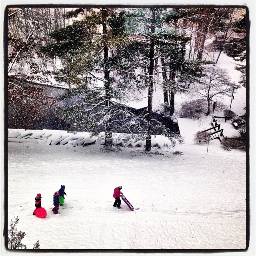
[[[162,23],[164,20],[161,12],[162,9],[160,8],[138,8],[130,12],[132,17],[130,33],[134,46],[133,52],[130,51],[130,58],[136,62],[138,77],[143,80],[143,84],[148,88],[146,151],[151,150],[151,136],[154,134],[153,127],[155,123],[152,120],[152,99],[153,85],[156,81],[160,82],[158,78],[158,58],[161,56],[165,58],[164,54],[169,51],[171,51],[170,54],[174,53],[172,47],[175,48],[177,44],[173,42],[173,37],[179,37],[176,32],[163,29]],[[163,83],[162,86],[164,86]],[[162,134],[166,133],[166,129],[161,127],[160,124],[158,124],[158,129],[162,129]],[[170,134],[169,132],[167,136],[170,137]]]

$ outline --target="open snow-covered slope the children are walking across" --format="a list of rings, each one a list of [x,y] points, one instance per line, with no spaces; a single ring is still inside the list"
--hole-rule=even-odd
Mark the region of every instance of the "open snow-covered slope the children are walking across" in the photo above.
[[[176,144],[146,156],[142,148],[9,142],[8,220],[20,218],[28,248],[37,240],[40,249],[245,248],[246,153],[225,151],[217,140],[206,149]],[[61,184],[66,202],[54,215]],[[113,207],[119,185],[139,210]],[[44,219],[32,215],[37,193]]]

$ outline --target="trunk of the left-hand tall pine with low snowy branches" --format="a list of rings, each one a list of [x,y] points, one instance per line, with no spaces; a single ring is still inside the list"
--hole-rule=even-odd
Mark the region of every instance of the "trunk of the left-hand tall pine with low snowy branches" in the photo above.
[[[109,68],[108,68],[108,46],[106,44],[107,40],[107,24],[106,24],[106,10],[102,9],[102,28],[103,28],[103,38],[104,38],[104,85],[105,85],[105,96],[106,96],[106,108],[107,116],[110,113],[110,79],[109,79]],[[111,130],[111,118],[106,122],[105,127],[105,148],[112,148],[112,130]]]

